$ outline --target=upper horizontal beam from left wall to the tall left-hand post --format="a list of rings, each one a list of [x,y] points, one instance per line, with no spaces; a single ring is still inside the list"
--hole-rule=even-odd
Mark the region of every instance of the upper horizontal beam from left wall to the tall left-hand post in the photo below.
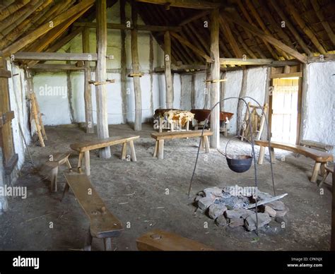
[[[97,61],[98,54],[64,53],[64,52],[16,52],[14,60],[37,61]]]

